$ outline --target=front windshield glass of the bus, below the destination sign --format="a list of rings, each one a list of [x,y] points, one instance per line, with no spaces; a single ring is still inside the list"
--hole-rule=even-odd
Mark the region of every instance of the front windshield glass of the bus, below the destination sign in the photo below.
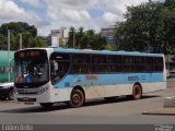
[[[16,61],[15,83],[37,83],[48,81],[48,62],[46,60]]]

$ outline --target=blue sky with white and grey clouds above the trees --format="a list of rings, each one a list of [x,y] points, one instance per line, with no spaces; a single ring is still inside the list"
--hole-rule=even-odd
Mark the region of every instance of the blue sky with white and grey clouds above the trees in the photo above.
[[[9,22],[27,22],[35,25],[38,35],[47,36],[59,27],[102,27],[124,21],[128,5],[149,0],[0,0],[0,25]]]

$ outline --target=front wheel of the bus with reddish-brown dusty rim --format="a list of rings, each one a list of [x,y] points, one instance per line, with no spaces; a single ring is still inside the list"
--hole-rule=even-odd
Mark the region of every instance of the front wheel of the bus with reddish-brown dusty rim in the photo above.
[[[81,90],[75,88],[72,91],[70,96],[69,106],[72,108],[81,107],[84,104],[84,94]]]

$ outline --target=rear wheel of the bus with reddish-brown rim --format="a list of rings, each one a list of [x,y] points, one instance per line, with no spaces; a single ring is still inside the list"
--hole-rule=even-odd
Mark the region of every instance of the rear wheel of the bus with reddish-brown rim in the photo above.
[[[142,97],[142,90],[139,84],[135,84],[132,87],[132,98],[135,100],[140,99]]]

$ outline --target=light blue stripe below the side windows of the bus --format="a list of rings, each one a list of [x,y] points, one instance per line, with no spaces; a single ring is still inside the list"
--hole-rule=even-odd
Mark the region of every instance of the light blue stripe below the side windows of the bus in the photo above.
[[[163,73],[121,73],[121,74],[68,74],[54,85],[57,87],[115,85],[162,82]]]

